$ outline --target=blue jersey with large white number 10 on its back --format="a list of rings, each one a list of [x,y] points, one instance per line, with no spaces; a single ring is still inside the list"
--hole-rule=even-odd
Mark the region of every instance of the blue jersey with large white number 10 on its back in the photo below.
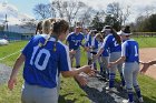
[[[23,68],[23,79],[28,84],[45,87],[56,87],[60,71],[70,71],[69,49],[61,41],[56,43],[55,38],[50,38],[46,45],[46,34],[35,35],[22,50],[26,56]]]

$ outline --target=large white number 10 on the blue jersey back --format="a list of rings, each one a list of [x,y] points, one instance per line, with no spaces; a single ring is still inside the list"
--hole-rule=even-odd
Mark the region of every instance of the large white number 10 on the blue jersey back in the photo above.
[[[38,54],[37,54],[37,51],[38,51],[39,47],[35,47],[33,48],[33,52],[32,52],[32,56],[31,56],[31,60],[30,60],[30,64],[33,65],[38,69],[38,70],[45,70],[47,64],[48,64],[48,61],[50,59],[50,52],[46,49],[41,49],[39,50]],[[35,58],[35,55],[37,54],[37,56]],[[39,64],[39,61],[41,60],[41,55],[45,54],[45,59],[42,61],[41,64]],[[33,61],[35,59],[35,61]]]

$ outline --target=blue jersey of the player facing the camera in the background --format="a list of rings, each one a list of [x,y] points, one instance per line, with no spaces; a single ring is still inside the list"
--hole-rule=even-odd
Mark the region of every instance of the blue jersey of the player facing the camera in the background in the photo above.
[[[69,49],[74,49],[74,50],[77,50],[79,49],[79,47],[81,45],[81,42],[84,40],[84,35],[82,33],[79,33],[79,34],[76,34],[75,32],[70,33],[68,37],[67,37],[67,41],[69,43]]]

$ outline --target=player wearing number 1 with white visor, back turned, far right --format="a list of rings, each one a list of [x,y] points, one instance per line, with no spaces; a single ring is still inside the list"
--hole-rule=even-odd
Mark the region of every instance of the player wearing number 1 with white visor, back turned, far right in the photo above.
[[[124,62],[124,78],[126,81],[126,89],[128,93],[128,103],[134,103],[134,94],[133,94],[133,86],[136,91],[138,96],[139,103],[143,103],[143,97],[140,94],[140,89],[137,82],[137,74],[139,71],[139,52],[138,52],[138,43],[130,39],[130,30],[129,27],[125,27],[124,30],[118,32],[120,34],[124,43],[121,44],[121,58],[117,61],[109,63],[109,66]],[[124,102],[125,103],[125,102]]]

